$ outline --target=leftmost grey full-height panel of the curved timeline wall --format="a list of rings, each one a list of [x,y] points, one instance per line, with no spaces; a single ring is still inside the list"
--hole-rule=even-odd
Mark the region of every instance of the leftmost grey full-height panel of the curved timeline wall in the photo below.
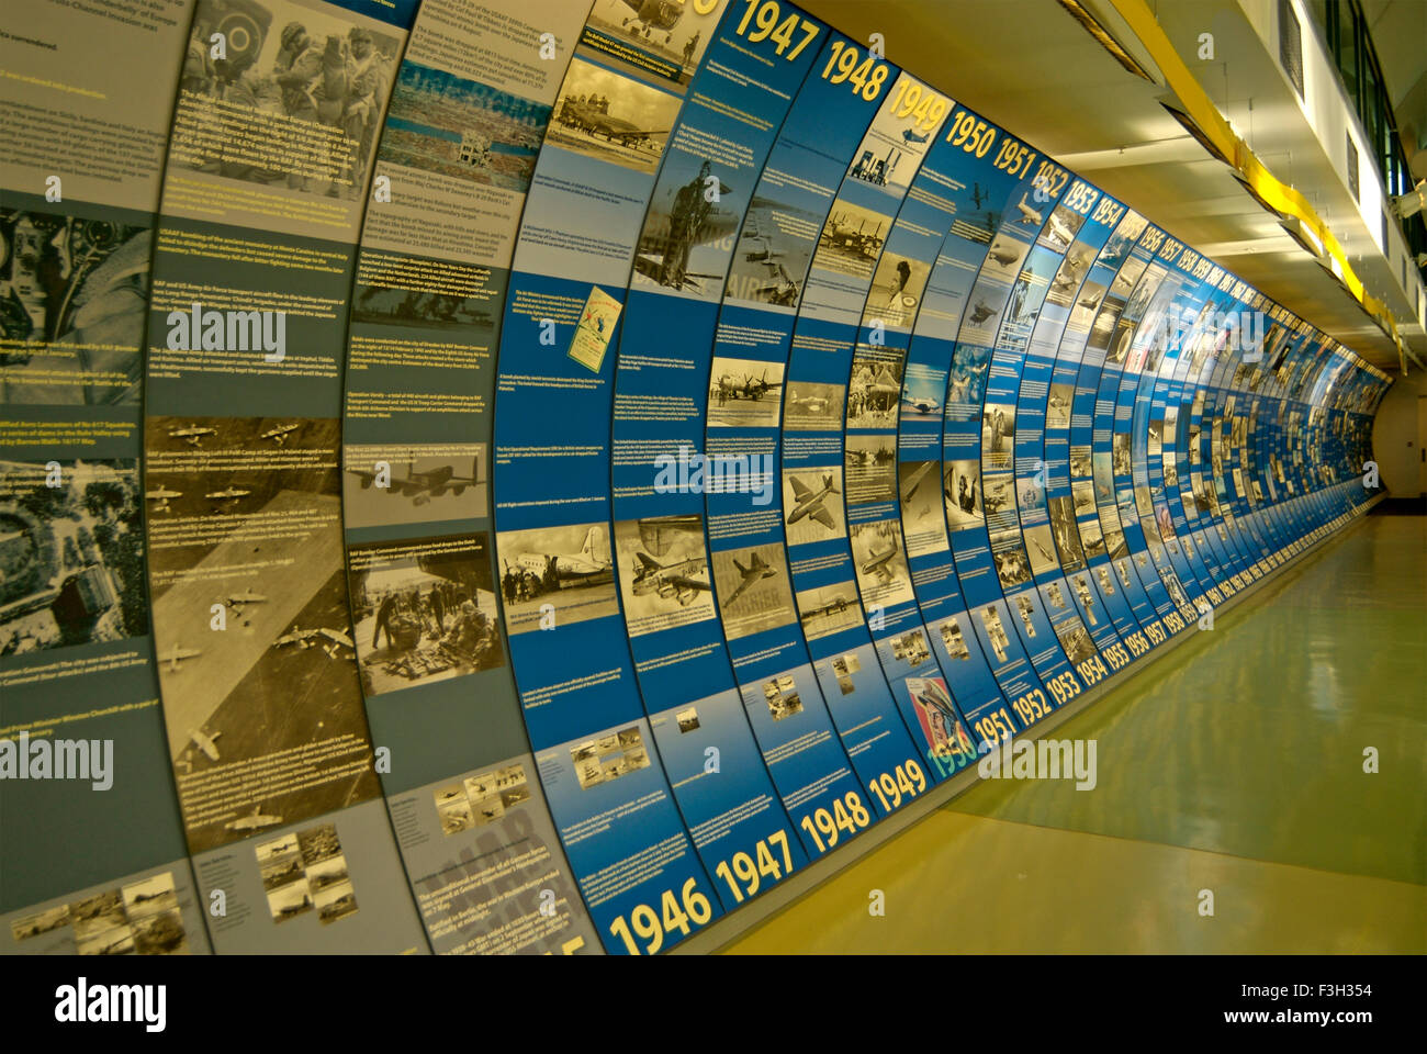
[[[0,37],[4,954],[210,950],[166,761],[140,468],[191,13],[33,4]]]

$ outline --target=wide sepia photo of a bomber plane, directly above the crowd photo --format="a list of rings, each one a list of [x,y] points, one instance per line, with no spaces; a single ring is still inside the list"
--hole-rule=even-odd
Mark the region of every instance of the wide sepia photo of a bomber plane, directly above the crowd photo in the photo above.
[[[485,443],[342,447],[342,518],[354,527],[394,527],[489,516]]]

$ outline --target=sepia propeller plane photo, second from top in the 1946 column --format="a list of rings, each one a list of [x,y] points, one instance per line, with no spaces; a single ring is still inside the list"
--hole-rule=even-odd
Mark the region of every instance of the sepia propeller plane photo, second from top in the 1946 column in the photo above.
[[[682,99],[604,66],[574,59],[545,141],[652,176]]]

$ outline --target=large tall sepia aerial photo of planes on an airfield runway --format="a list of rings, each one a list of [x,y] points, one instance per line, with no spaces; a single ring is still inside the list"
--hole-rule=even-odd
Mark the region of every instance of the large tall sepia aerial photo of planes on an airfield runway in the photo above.
[[[347,764],[320,751],[288,783],[298,788],[261,801],[234,791],[221,804],[210,791],[214,770],[264,756],[340,738],[370,748],[342,570],[338,424],[146,421],[154,647],[191,851],[380,793],[365,766],[320,778]]]

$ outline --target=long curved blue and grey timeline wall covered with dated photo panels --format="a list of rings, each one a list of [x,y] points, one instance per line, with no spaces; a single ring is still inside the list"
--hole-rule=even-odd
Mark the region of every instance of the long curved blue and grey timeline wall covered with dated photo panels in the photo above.
[[[1386,374],[783,0],[21,27],[6,951],[656,953],[1367,500]]]

